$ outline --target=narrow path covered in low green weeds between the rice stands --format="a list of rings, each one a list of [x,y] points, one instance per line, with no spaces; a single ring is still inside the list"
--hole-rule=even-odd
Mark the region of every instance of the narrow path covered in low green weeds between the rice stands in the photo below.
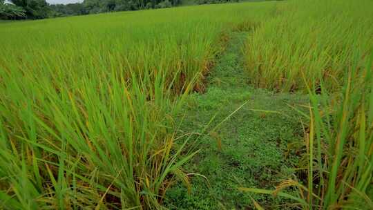
[[[185,107],[182,132],[201,131],[216,115],[214,128],[228,115],[216,132],[190,140],[200,153],[184,169],[200,173],[191,178],[191,193],[176,184],[166,195],[169,209],[251,209],[251,198],[237,187],[271,189],[288,178],[295,156],[285,158],[287,145],[300,139],[298,115],[287,104],[302,104],[306,97],[274,94],[251,88],[242,66],[242,46],[249,32],[232,32],[229,44],[208,77],[204,94],[193,94]],[[278,113],[264,113],[267,110]],[[280,113],[280,114],[279,114]],[[208,129],[209,131],[209,129]],[[198,142],[195,142],[198,141]],[[283,200],[251,195],[269,209],[277,209]]]

